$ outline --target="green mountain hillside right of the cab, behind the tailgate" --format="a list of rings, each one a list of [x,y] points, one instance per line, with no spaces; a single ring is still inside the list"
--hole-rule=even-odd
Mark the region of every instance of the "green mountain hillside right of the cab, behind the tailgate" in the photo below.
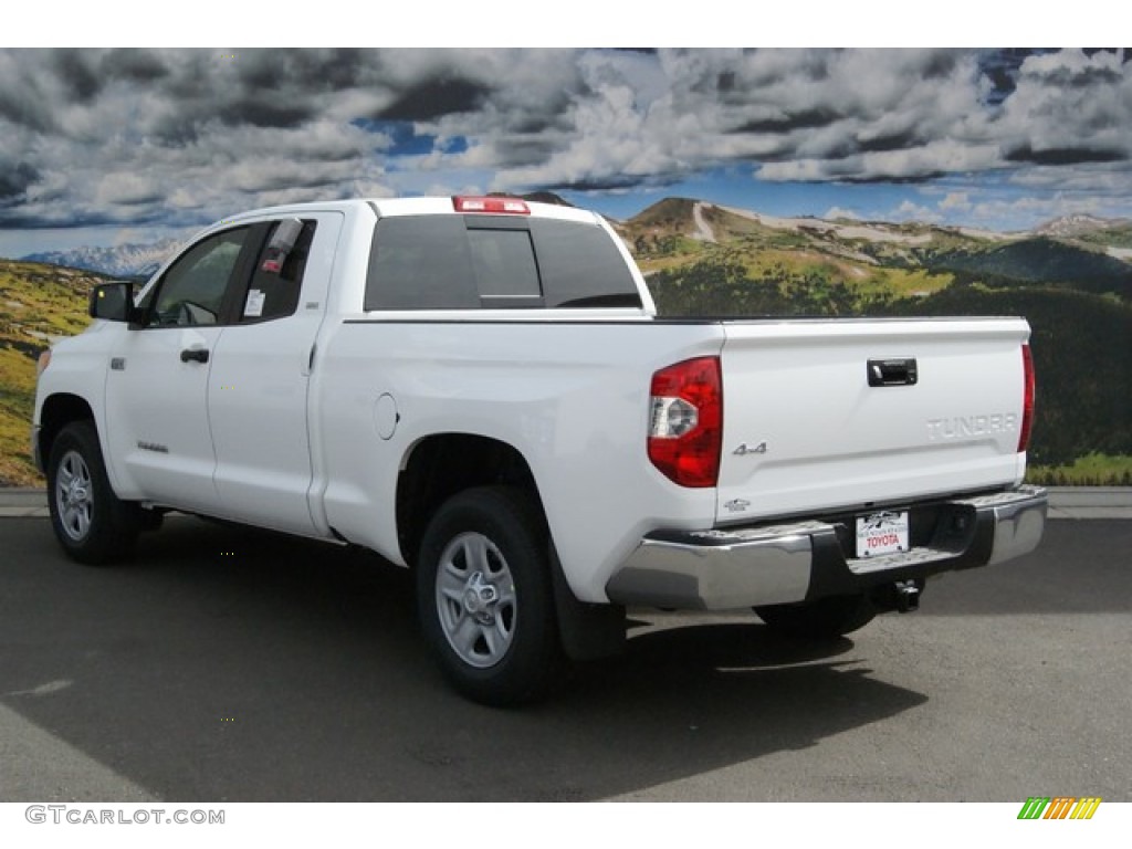
[[[1024,316],[1038,376],[1031,479],[1132,483],[1132,265],[1105,252],[1127,226],[1003,238],[761,218],[743,232],[705,207],[697,221],[695,201],[662,201],[623,225],[661,315]],[[713,241],[704,222],[720,222]]]

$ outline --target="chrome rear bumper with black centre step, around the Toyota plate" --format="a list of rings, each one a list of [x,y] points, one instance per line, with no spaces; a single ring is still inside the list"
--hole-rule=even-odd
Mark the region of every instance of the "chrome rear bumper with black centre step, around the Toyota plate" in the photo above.
[[[1037,548],[1046,491],[1006,492],[914,506],[925,520],[909,551],[847,556],[851,517],[709,531],[657,531],[606,584],[611,601],[728,610],[788,604],[923,581],[1002,563]]]

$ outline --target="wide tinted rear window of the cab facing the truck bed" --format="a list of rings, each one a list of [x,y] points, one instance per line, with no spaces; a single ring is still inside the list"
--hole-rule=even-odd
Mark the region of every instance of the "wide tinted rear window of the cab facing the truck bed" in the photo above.
[[[495,215],[378,222],[367,310],[637,307],[621,254],[595,224]]]

